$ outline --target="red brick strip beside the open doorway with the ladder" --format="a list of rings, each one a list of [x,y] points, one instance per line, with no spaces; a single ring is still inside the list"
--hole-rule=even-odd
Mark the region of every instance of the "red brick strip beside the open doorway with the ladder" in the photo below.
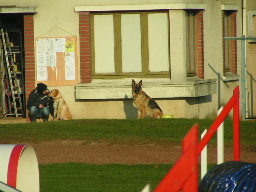
[[[35,88],[35,46],[34,46],[34,17],[24,15],[24,51],[25,51],[25,93],[26,104],[28,95]],[[26,110],[28,120],[28,110]]]

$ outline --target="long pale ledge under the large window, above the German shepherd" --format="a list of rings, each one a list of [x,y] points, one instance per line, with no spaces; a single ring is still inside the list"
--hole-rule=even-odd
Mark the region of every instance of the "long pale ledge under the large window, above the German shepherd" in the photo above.
[[[136,83],[140,79],[134,79]],[[171,82],[169,78],[143,79],[142,90],[151,98],[184,98],[216,94],[216,79]],[[92,80],[76,84],[76,99],[132,98],[132,79]]]

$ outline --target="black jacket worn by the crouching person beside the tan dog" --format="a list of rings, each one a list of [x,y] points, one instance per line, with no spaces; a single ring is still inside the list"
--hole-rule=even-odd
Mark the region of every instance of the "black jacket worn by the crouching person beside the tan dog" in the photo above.
[[[27,110],[33,105],[39,108],[39,105],[42,104],[44,107],[50,109],[50,114],[53,116],[54,110],[52,100],[53,98],[48,97],[47,94],[39,94],[37,88],[35,88],[28,96]]]

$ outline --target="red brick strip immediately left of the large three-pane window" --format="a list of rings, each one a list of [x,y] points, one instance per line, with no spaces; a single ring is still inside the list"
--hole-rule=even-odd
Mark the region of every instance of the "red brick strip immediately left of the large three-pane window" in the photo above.
[[[90,13],[79,12],[80,78],[81,83],[92,82],[90,59]]]

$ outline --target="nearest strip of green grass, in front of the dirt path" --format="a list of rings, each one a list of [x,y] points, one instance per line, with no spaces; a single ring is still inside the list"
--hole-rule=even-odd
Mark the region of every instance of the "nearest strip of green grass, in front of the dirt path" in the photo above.
[[[41,192],[140,192],[156,188],[171,164],[40,164]]]

